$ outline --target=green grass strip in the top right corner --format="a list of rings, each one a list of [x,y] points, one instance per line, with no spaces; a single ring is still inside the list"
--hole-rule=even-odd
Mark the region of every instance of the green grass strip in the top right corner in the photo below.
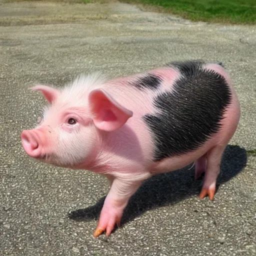
[[[256,23],[256,0],[121,0],[158,6],[194,21]]]

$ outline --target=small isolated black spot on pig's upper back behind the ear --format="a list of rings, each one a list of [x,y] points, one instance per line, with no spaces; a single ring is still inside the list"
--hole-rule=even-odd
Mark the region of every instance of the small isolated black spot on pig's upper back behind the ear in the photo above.
[[[130,84],[135,86],[139,90],[143,89],[156,89],[161,84],[161,78],[154,75],[146,73],[144,76],[136,78],[135,80],[131,81]]]

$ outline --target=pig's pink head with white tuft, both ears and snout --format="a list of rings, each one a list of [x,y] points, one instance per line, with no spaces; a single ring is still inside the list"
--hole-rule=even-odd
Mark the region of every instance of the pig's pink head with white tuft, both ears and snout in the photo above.
[[[32,87],[49,105],[34,129],[22,131],[25,152],[58,166],[75,168],[93,162],[107,133],[132,116],[103,85],[97,76],[81,76],[61,90],[46,85]]]

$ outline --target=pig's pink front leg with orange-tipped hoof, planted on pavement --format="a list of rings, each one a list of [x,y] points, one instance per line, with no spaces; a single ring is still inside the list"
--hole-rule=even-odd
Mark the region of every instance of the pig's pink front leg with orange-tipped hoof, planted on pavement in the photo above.
[[[98,225],[93,233],[94,237],[97,237],[104,231],[106,231],[106,235],[108,236],[115,224],[120,224],[123,210],[129,198],[138,189],[144,179],[141,177],[138,179],[132,177],[132,180],[119,177],[109,179],[111,187],[101,209]]]

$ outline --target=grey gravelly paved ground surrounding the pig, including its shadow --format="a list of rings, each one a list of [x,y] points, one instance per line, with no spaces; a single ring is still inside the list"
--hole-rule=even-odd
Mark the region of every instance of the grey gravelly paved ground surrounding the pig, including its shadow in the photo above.
[[[191,23],[121,4],[0,1],[0,255],[256,255],[256,26]],[[94,239],[107,181],[25,155],[20,132],[44,101],[27,88],[81,72],[114,77],[171,60],[222,61],[242,115],[214,201],[193,169],[155,176],[123,225]],[[253,151],[251,151],[253,152]]]

